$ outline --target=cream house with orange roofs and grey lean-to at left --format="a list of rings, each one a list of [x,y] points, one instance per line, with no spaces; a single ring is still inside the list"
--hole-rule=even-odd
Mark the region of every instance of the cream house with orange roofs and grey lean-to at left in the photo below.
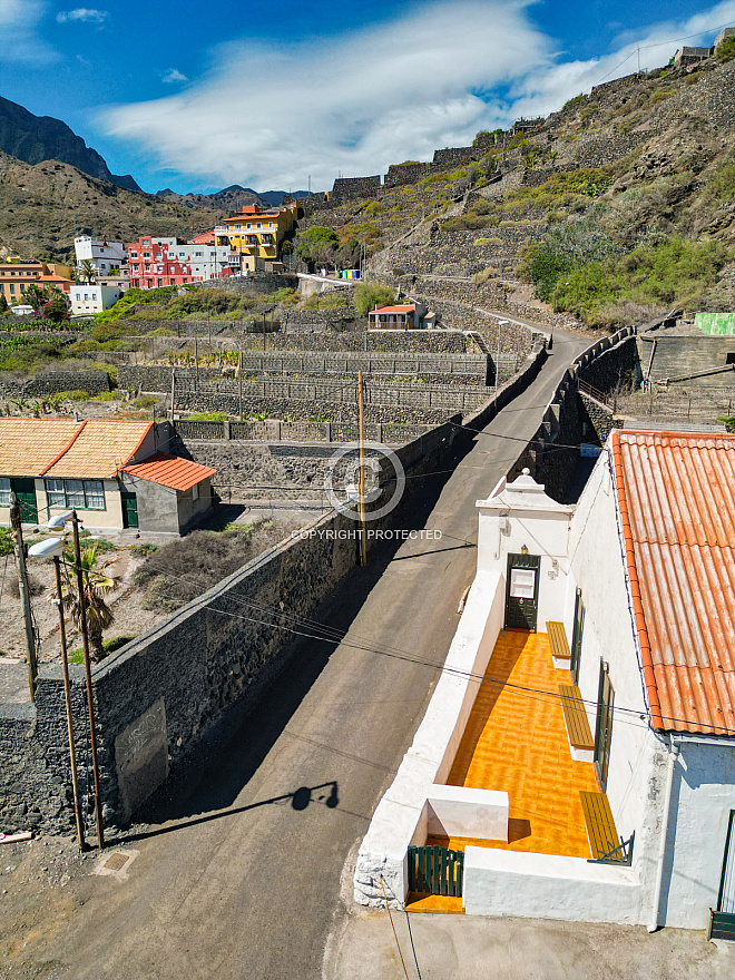
[[[182,533],[212,509],[216,471],[167,448],[165,423],[0,419],[0,525],[14,491],[26,523],[74,508],[88,530]]]

